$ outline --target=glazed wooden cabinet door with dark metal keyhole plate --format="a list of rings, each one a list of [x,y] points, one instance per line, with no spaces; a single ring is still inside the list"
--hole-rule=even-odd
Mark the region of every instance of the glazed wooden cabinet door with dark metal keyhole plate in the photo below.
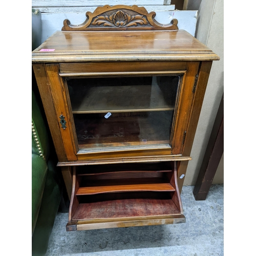
[[[67,160],[182,155],[198,70],[199,62],[46,64]]]

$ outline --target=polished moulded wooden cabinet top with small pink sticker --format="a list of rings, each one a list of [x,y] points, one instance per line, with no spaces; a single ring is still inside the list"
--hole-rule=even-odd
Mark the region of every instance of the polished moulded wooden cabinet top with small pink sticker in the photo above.
[[[32,52],[32,62],[218,59],[184,30],[57,31]]]

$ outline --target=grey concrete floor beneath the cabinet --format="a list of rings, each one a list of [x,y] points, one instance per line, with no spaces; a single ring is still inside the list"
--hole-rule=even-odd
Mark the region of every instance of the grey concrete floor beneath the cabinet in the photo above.
[[[223,248],[223,185],[211,185],[205,201],[194,186],[182,188],[185,223],[66,231],[68,214],[58,213],[46,256],[220,256]]]

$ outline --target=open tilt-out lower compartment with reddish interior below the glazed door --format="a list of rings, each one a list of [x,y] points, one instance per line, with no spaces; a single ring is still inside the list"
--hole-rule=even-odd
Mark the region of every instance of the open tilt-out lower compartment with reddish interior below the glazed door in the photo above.
[[[67,231],[162,221],[185,221],[176,162],[73,167]]]

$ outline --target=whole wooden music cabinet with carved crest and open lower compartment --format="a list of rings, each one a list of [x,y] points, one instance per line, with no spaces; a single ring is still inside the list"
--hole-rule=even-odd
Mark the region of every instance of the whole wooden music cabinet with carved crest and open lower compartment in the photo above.
[[[70,197],[67,230],[185,222],[180,191],[213,60],[178,21],[104,6],[32,66]]]

